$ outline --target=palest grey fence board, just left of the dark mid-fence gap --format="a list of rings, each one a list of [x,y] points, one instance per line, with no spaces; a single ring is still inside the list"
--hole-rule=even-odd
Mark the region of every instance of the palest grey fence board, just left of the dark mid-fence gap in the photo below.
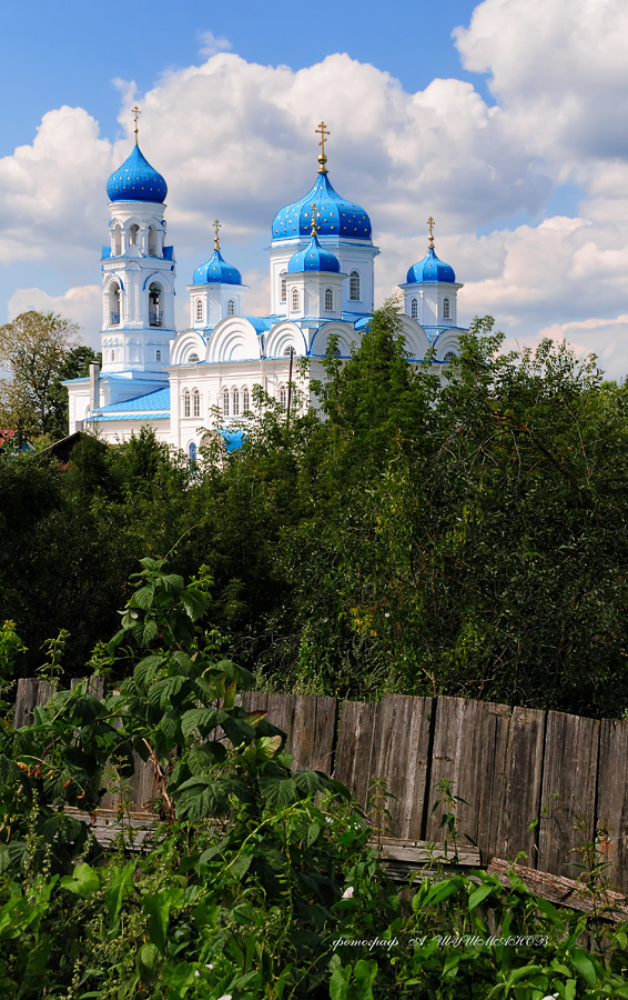
[[[369,778],[383,778],[394,798],[384,801],[395,837],[421,836],[429,751],[432,698],[385,694],[373,734]],[[371,820],[376,824],[376,814]],[[386,817],[381,824],[386,828]]]

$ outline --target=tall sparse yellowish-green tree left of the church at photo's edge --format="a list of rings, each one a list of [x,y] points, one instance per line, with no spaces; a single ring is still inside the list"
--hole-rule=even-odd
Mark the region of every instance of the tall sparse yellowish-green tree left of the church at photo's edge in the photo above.
[[[54,403],[51,387],[74,346],[77,323],[53,312],[30,310],[0,327],[0,413],[3,423],[48,433]]]

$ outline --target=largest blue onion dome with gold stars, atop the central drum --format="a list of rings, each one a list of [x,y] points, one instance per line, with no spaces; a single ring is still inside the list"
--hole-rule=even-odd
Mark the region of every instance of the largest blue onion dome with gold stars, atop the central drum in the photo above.
[[[363,208],[334,191],[327,173],[318,173],[314,187],[300,201],[280,209],[273,219],[273,240],[310,236],[313,202],[316,206],[318,236],[371,242],[371,219]]]

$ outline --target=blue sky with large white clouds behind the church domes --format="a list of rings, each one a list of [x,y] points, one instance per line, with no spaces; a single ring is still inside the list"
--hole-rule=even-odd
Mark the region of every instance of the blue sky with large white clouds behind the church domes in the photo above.
[[[223,7],[3,6],[0,320],[50,308],[98,344],[104,186],[138,101],[169,183],[181,326],[216,216],[247,311],[266,311],[270,223],[311,186],[325,118],[332,180],[382,248],[381,299],[434,214],[460,319],[495,316],[509,346],[567,337],[624,374],[625,0]]]

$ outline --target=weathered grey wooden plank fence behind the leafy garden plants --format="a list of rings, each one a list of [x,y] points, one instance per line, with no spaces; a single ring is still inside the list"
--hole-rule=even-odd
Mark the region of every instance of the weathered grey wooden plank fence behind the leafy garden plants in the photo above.
[[[102,681],[92,683],[102,696]],[[43,682],[20,680],[16,727],[48,696]],[[266,711],[287,733],[295,767],[333,774],[363,807],[373,779],[383,778],[395,797],[387,801],[392,832],[402,840],[443,840],[443,810],[433,814],[432,806],[435,786],[448,779],[467,803],[458,803],[459,831],[477,844],[483,864],[524,851],[524,864],[576,878],[575,849],[602,830],[608,877],[628,891],[628,722],[403,694],[362,703],[249,692],[241,703]],[[154,794],[152,768],[139,761],[136,811],[146,811]],[[103,801],[114,804],[111,796]]]

